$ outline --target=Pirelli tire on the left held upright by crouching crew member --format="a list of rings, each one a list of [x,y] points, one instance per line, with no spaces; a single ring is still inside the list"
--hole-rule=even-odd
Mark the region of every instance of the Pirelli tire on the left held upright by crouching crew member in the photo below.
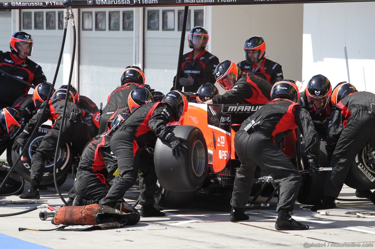
[[[39,147],[40,142],[42,142],[44,135],[51,129],[51,126],[42,124],[39,127],[39,130],[31,136],[30,145],[25,150],[24,154],[21,157],[21,160],[18,161],[17,165],[15,165],[16,172],[26,181],[31,182],[30,172],[31,172],[31,158],[36,153],[36,149]],[[15,162],[17,157],[20,155],[19,153],[22,151],[23,148],[20,148],[20,151],[12,151],[12,161]],[[69,143],[66,143],[60,147],[58,151],[58,160],[56,165],[56,177],[57,183],[61,186],[66,179],[68,174],[69,167],[72,161],[72,147]],[[42,181],[40,185],[54,185],[53,179],[53,164],[54,164],[54,157],[50,160],[46,161],[45,169],[42,177]],[[52,185],[51,185],[52,184]]]

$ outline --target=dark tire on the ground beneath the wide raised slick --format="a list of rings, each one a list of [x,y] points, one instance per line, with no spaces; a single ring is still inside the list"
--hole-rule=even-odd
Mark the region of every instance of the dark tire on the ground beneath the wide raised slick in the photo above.
[[[195,199],[196,191],[173,192],[161,187],[157,182],[154,194],[155,203],[160,207],[186,207]]]

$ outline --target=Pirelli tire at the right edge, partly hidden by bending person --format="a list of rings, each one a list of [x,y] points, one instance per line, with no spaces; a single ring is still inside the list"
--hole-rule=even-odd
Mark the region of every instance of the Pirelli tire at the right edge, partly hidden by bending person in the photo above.
[[[374,148],[366,144],[358,153],[350,167],[345,184],[357,190],[375,188]]]

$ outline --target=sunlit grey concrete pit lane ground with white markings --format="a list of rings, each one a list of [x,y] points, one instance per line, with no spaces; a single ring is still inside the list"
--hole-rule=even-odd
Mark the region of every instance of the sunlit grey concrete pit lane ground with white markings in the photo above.
[[[63,196],[72,187],[72,179],[60,188]],[[26,183],[25,191],[29,184]],[[40,198],[56,208],[62,204],[54,188],[40,191]],[[124,196],[136,202],[139,187]],[[354,190],[344,186],[341,198],[352,198]],[[18,196],[6,197],[20,200]],[[15,213],[37,205],[0,206],[0,213]],[[338,208],[375,212],[371,202],[338,201]],[[139,209],[140,206],[137,206]],[[51,218],[39,219],[39,212],[0,217],[1,248],[312,248],[374,247],[375,217],[325,216],[296,203],[294,219],[310,226],[306,231],[277,231],[275,207],[247,209],[250,219],[229,222],[229,197],[199,194],[194,203],[181,209],[164,209],[164,217],[141,218],[138,224],[111,230],[93,231],[18,231],[19,227],[51,229]],[[45,209],[47,210],[47,209]],[[47,210],[48,211],[48,210]]]

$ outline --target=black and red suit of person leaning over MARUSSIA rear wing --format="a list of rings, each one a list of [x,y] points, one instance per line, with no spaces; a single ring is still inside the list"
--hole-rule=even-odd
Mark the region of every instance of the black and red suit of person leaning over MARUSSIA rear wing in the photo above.
[[[272,86],[251,73],[242,74],[231,90],[215,95],[213,104],[266,104],[270,101]]]

